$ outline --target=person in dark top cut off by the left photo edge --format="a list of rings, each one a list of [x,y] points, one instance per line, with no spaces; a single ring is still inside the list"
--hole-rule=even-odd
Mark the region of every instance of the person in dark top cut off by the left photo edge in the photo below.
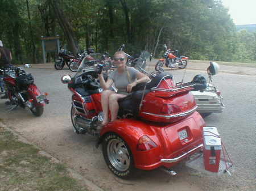
[[[11,51],[7,48],[3,47],[3,43],[0,40],[0,67],[5,68],[5,67],[10,67],[11,66],[11,60],[13,57],[11,56]],[[3,74],[0,75],[0,88],[1,91],[5,91],[5,83],[3,82]],[[1,97],[1,99],[6,99],[7,94]]]

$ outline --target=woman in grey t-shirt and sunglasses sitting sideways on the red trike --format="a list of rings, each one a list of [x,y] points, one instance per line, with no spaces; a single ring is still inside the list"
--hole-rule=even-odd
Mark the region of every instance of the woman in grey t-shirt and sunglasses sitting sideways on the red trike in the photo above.
[[[140,71],[133,67],[126,66],[127,57],[124,52],[116,52],[114,54],[113,63],[117,66],[117,69],[110,73],[108,80],[105,82],[103,74],[98,74],[101,87],[104,91],[101,94],[101,106],[104,114],[102,125],[106,125],[109,122],[109,110],[111,114],[111,120],[117,119],[118,114],[118,99],[126,97],[131,92],[131,89],[138,83],[148,82],[150,79],[142,74]],[[114,84],[118,89],[118,92],[109,90]]]

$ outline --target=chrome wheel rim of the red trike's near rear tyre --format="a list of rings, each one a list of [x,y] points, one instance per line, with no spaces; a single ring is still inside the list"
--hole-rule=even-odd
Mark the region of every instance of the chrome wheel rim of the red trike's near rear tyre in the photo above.
[[[131,163],[131,158],[125,143],[119,139],[112,139],[107,147],[109,162],[118,171],[126,171]]]

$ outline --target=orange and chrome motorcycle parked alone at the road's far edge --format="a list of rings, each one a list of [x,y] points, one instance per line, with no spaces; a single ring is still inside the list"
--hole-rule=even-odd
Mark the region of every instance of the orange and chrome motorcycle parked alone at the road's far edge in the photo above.
[[[167,48],[166,44],[164,44],[164,48],[166,49],[166,52],[164,53],[163,57],[161,58],[155,65],[155,70],[159,71],[160,68],[163,68],[165,65],[166,67],[169,67],[171,69],[179,68],[184,69],[187,67],[188,64],[188,57],[185,56],[179,56],[174,54],[174,51],[171,51]],[[177,54],[177,51],[176,51]]]

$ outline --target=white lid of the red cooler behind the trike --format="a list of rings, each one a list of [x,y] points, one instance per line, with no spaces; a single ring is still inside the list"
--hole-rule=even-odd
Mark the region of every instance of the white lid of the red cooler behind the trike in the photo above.
[[[214,147],[214,150],[221,150],[221,138],[217,137],[218,134],[216,127],[204,127],[204,147],[206,150],[210,150],[210,147]]]

